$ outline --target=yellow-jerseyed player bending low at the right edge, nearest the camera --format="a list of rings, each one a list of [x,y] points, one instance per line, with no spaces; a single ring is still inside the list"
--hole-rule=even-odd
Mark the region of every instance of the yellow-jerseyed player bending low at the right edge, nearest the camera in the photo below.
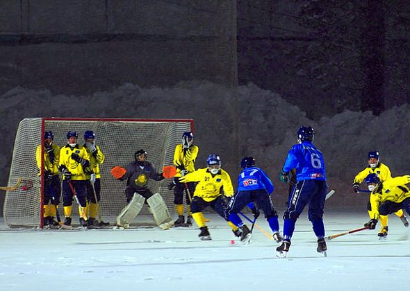
[[[410,183],[410,175],[387,179],[382,182],[375,173],[366,177],[366,184],[371,192],[372,209],[374,218],[367,222],[369,229],[375,229],[377,221],[380,219],[382,229],[377,234],[380,238],[386,238],[388,232],[387,215],[406,209],[410,215],[410,191],[405,184]]]

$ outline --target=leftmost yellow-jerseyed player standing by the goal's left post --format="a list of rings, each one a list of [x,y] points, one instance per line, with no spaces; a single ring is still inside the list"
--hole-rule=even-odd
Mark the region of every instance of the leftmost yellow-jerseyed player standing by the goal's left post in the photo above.
[[[60,147],[54,141],[51,131],[44,132],[44,145],[38,145],[35,151],[37,166],[41,169],[41,151],[44,146],[44,215],[43,225],[49,227],[58,225],[54,220],[56,209],[60,204],[60,177],[58,177],[58,162],[60,159]],[[51,202],[51,204],[50,204]]]

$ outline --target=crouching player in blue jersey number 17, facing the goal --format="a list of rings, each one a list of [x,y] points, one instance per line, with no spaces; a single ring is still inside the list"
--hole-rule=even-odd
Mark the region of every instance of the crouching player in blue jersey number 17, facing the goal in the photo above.
[[[229,201],[227,208],[228,219],[235,224],[242,231],[241,241],[243,243],[249,242],[250,231],[248,227],[238,216],[238,213],[248,205],[252,209],[255,218],[259,215],[259,211],[255,209],[252,202],[256,202],[258,209],[265,213],[265,218],[268,220],[269,226],[273,231],[273,238],[278,243],[281,241],[279,235],[279,222],[277,212],[273,208],[270,193],[274,187],[269,177],[260,168],[255,167],[255,159],[253,157],[244,157],[240,162],[243,171],[238,177],[238,191],[234,197]]]

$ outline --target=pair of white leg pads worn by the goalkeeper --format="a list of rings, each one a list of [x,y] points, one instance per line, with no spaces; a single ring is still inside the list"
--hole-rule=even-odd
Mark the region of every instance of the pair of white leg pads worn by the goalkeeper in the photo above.
[[[117,217],[117,226],[129,228],[129,224],[136,218],[144,205],[145,198],[138,193],[134,193],[133,199],[127,204]],[[154,220],[161,229],[169,229],[174,225],[174,220],[170,216],[163,197],[155,193],[147,199],[149,211],[154,216]]]

